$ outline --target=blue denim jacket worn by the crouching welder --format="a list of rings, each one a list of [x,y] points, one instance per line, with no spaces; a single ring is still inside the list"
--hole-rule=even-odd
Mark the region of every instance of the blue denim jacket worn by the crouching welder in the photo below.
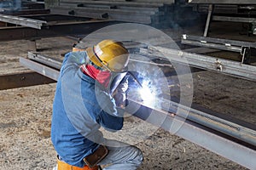
[[[85,52],[66,54],[57,82],[51,124],[51,140],[61,159],[84,167],[83,158],[103,142],[100,127],[111,131],[123,127],[124,111],[117,108],[110,94],[84,75],[79,65]]]

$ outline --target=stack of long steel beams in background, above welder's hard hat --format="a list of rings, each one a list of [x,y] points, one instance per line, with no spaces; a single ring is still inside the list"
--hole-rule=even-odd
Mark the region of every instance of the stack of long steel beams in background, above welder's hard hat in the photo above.
[[[59,4],[54,5],[50,10],[52,14],[136,22],[153,26],[172,26],[177,20],[175,17],[178,11],[181,11],[174,0],[60,0]],[[191,7],[189,10],[192,12]],[[178,17],[178,20],[180,18],[185,17]]]

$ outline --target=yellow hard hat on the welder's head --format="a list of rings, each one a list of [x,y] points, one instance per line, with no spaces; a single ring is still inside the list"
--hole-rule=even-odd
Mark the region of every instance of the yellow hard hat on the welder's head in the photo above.
[[[86,52],[94,65],[108,71],[122,72],[128,65],[128,50],[122,42],[103,40],[92,48],[86,48]]]

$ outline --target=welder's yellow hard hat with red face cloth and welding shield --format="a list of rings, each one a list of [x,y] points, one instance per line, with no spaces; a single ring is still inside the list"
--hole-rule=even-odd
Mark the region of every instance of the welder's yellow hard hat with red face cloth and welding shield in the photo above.
[[[113,91],[126,75],[129,61],[128,50],[122,42],[103,40],[96,46],[87,48],[86,52],[92,65],[99,70],[96,77],[97,82],[109,94],[113,94]]]

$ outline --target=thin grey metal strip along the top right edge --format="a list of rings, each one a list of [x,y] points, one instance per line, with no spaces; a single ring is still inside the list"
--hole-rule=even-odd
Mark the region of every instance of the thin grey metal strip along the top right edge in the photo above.
[[[255,0],[189,0],[189,3],[256,4]]]

